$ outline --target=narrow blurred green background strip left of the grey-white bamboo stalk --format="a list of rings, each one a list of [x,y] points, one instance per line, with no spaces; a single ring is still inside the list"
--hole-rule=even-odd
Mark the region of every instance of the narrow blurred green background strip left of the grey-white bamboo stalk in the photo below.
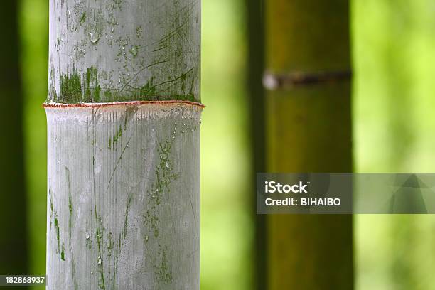
[[[41,104],[48,87],[48,1],[22,0],[20,8],[29,269],[45,274],[47,126]]]

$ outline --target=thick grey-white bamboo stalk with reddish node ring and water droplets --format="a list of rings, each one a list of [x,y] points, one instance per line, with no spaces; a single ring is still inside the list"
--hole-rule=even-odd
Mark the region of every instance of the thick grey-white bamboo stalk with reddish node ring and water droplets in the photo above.
[[[50,1],[47,289],[199,289],[200,0]]]

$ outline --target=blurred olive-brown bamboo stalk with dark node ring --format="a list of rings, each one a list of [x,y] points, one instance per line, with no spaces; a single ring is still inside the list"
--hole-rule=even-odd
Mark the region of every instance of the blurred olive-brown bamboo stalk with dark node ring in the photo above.
[[[267,1],[269,172],[352,170],[350,82],[325,73],[350,68],[348,10]],[[271,215],[268,227],[269,289],[353,289],[351,216]]]

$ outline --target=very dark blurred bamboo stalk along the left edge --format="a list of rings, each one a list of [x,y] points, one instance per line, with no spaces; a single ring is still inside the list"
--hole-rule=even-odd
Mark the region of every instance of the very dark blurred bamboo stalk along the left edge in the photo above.
[[[23,100],[19,72],[19,1],[0,9],[0,274],[28,274],[26,191],[23,168]]]

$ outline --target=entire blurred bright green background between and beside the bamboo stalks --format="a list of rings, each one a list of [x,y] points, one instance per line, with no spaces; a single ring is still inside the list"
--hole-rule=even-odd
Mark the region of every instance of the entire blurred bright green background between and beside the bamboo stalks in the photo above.
[[[352,2],[355,171],[434,172],[435,1]],[[44,274],[48,0],[22,0],[20,17],[31,273]],[[245,1],[203,0],[204,290],[253,288],[246,31]],[[357,289],[434,289],[431,215],[357,216],[355,250]]]

